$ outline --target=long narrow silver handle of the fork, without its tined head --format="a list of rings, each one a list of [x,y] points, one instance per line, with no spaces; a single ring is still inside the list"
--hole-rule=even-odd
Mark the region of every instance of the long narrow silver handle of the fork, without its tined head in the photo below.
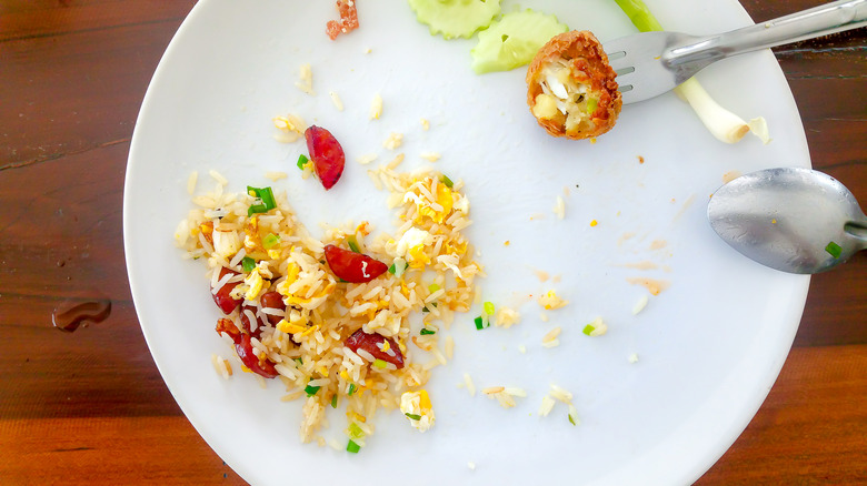
[[[672,47],[666,60],[672,65],[705,67],[730,55],[828,36],[867,26],[867,0],[838,0],[767,22],[707,36]]]

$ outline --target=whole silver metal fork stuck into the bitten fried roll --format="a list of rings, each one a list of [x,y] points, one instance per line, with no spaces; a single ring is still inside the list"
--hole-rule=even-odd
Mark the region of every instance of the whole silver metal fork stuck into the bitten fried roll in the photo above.
[[[867,0],[839,0],[715,36],[644,32],[602,44],[624,104],[675,89],[710,63],[744,52],[867,26]]]

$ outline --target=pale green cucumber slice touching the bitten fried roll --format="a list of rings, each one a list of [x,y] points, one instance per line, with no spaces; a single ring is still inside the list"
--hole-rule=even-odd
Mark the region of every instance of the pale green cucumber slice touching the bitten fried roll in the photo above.
[[[479,32],[479,42],[470,51],[472,70],[482,74],[527,64],[546,42],[568,30],[556,17],[530,9],[507,13]]]

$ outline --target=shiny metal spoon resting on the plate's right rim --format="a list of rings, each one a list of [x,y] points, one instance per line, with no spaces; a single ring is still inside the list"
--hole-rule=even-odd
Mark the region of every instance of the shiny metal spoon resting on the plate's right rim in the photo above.
[[[809,169],[768,169],[719,188],[710,226],[735,250],[789,273],[819,273],[867,249],[867,216],[836,179]]]

